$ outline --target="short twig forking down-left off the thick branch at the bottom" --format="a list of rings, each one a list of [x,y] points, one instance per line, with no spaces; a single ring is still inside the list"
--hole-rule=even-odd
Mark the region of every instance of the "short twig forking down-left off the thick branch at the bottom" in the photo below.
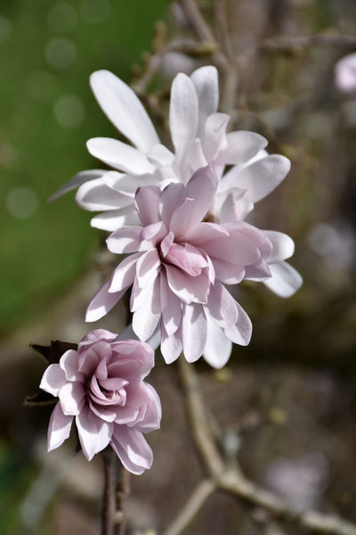
[[[204,506],[208,498],[215,490],[213,481],[200,481],[198,486],[193,490],[182,510],[174,518],[173,523],[166,529],[163,535],[179,535],[190,524],[198,513],[199,509]]]

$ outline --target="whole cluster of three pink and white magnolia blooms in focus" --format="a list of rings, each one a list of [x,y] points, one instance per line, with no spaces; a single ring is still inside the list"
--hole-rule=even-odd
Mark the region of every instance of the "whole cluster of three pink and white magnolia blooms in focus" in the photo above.
[[[86,457],[111,444],[124,465],[140,473],[150,465],[142,432],[157,428],[160,418],[157,394],[142,383],[153,366],[144,342],[158,332],[166,363],[183,353],[189,362],[203,356],[222,367],[232,343],[247,345],[252,333],[247,313],[226,286],[260,281],[289,297],[302,284],[286,262],[293,240],[246,220],[255,202],[286,177],[290,162],[266,152],[263,136],[227,132],[230,117],[217,111],[212,66],[174,78],[173,150],[160,143],[142,103],[122,80],[100,70],[91,85],[101,109],[132,144],[90,139],[89,152],[110,169],[78,173],[53,198],[78,188],[79,206],[99,212],[92,226],[110,233],[109,251],[127,255],[94,295],[86,321],[99,320],[131,292],[132,326],[141,342],[113,342],[111,333],[94,331],[77,352],[48,368],[42,388],[60,398],[49,447],[67,438],[76,417]]]

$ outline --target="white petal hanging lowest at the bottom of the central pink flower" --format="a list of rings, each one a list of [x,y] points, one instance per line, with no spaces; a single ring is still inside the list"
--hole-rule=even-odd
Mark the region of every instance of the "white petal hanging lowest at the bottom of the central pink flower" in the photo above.
[[[206,322],[207,336],[203,357],[210,366],[220,369],[231,356],[232,342],[209,314],[206,314]]]

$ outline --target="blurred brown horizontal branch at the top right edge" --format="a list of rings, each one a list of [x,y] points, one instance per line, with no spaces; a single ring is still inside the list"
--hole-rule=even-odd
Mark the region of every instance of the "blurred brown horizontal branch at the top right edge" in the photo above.
[[[290,53],[298,48],[307,48],[313,45],[356,49],[356,37],[332,33],[302,37],[271,37],[263,41],[260,49],[263,52]]]

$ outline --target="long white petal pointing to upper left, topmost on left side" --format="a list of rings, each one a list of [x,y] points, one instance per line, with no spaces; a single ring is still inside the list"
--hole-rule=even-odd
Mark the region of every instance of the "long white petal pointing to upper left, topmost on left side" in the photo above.
[[[108,70],[90,77],[93,94],[112,124],[138,149],[147,152],[159,139],[134,91]]]

